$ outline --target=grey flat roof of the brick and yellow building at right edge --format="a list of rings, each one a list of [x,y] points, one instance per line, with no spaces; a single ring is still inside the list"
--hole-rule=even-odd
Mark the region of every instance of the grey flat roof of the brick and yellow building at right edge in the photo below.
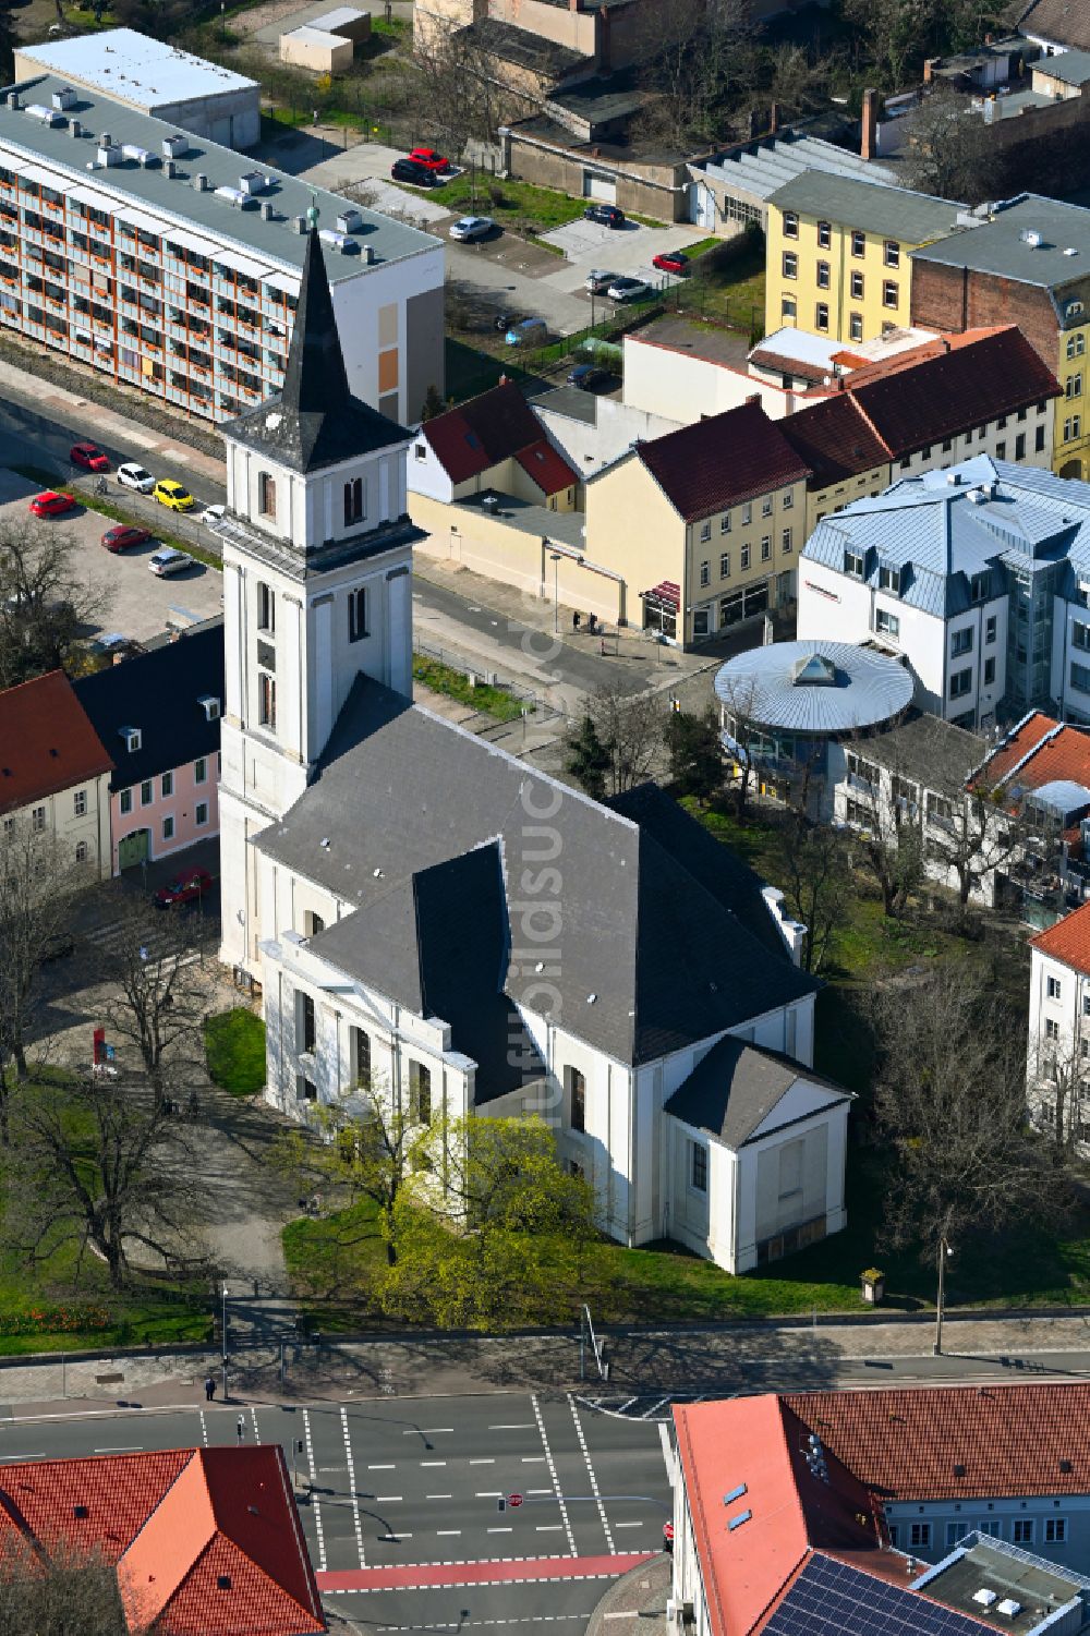
[[[1051,59],[1057,61],[1057,59]],[[1023,232],[1039,232],[1041,244],[1031,245]],[[1074,250],[1074,255],[1067,255]],[[962,226],[938,244],[928,244],[912,255],[943,267],[967,267],[977,273],[997,273],[1021,285],[1056,290],[1079,278],[1090,278],[1090,209],[1064,204],[1039,193],[1021,193],[975,227]]]

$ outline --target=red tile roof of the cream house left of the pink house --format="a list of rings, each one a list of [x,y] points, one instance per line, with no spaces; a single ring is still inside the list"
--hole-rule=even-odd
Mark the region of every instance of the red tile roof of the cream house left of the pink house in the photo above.
[[[64,671],[0,694],[0,811],[111,771]]]

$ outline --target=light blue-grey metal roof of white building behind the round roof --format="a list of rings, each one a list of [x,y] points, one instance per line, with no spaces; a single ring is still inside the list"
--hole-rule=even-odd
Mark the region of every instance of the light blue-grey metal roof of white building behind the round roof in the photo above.
[[[902,478],[884,494],[853,501],[817,525],[802,556],[845,573],[845,551],[863,556],[863,578],[902,569],[900,600],[938,618],[971,605],[971,578],[1005,568],[1039,573],[1067,561],[1090,573],[1090,484],[989,455]]]

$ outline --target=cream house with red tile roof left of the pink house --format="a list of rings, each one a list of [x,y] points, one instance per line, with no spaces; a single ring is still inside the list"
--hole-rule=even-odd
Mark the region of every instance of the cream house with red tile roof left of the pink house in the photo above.
[[[111,771],[64,671],[0,694],[0,844],[41,836],[62,869],[108,880]]]

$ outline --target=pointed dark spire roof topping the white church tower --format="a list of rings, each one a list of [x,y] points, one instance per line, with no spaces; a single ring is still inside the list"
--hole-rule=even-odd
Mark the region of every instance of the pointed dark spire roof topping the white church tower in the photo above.
[[[318,227],[308,234],[283,391],[226,420],[221,432],[293,471],[318,471],[409,438],[396,420],[352,396]]]

